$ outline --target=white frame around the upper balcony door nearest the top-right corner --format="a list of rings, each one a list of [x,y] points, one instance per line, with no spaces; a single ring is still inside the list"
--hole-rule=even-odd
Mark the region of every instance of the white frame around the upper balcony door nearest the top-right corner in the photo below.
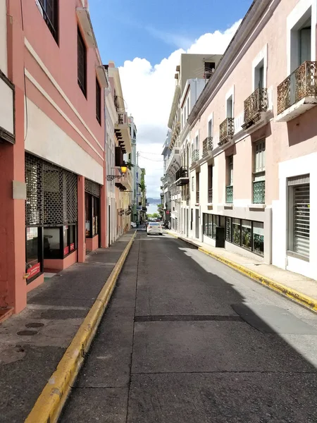
[[[311,8],[311,61],[316,61],[316,25],[317,25],[317,1],[316,0],[300,0],[293,8],[289,16],[287,16],[287,75],[292,72],[292,54],[291,54],[291,38],[292,29],[296,27],[299,20]]]

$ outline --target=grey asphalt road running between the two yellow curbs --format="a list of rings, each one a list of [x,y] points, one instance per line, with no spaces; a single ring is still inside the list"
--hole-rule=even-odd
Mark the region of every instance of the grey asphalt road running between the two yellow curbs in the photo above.
[[[316,369],[317,314],[139,231],[60,422],[316,423]]]

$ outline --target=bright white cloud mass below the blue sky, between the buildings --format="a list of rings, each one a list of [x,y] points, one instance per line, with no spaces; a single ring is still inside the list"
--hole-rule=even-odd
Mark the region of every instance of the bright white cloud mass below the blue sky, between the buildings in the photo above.
[[[123,96],[128,113],[137,125],[139,165],[147,170],[147,195],[159,197],[163,158],[160,156],[166,138],[168,116],[175,87],[175,67],[181,53],[222,54],[228,47],[241,20],[225,32],[201,35],[187,51],[178,49],[168,59],[154,66],[147,59],[135,58],[120,67]],[[151,153],[151,154],[148,154]]]

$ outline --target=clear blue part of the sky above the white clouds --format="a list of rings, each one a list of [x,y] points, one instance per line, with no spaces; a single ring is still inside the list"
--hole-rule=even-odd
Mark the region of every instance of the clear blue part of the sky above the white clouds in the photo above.
[[[105,63],[146,58],[159,63],[206,32],[224,31],[243,18],[251,0],[89,0]]]

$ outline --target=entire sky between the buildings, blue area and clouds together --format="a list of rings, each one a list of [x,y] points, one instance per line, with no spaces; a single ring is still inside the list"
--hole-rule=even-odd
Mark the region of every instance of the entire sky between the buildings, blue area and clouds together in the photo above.
[[[119,68],[125,105],[135,118],[148,197],[159,198],[162,145],[180,54],[223,54],[251,2],[89,0],[101,59]]]

